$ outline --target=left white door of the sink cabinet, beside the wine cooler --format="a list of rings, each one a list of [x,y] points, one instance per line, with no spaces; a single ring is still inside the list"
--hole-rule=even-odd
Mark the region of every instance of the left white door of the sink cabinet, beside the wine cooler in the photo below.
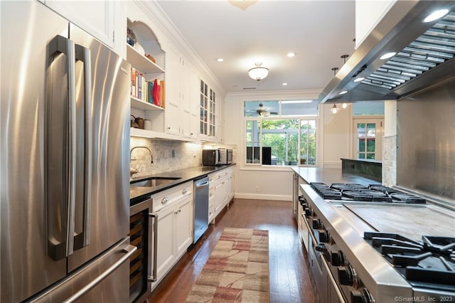
[[[169,206],[158,212],[158,255],[156,256],[158,279],[162,277],[168,267],[173,265],[175,259],[174,211],[175,207]]]

